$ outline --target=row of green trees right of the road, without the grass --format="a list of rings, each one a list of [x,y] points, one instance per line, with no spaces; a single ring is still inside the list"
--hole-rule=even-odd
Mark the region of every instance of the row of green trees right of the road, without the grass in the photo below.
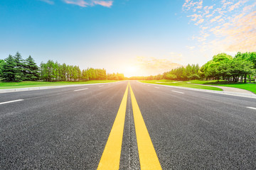
[[[188,64],[186,67],[171,69],[164,74],[149,77],[131,77],[130,79],[170,79],[188,81],[194,79],[208,80],[227,80],[238,82],[247,82],[247,79],[255,79],[256,70],[256,52],[238,52],[235,57],[220,53],[213,56],[202,67],[198,64]]]

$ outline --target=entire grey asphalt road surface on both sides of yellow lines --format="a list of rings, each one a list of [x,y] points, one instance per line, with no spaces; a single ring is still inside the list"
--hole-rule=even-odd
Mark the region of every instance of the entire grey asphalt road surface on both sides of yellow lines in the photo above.
[[[0,94],[0,169],[97,169],[127,83]],[[256,169],[255,98],[130,84],[162,169]],[[140,169],[130,93],[119,168]]]

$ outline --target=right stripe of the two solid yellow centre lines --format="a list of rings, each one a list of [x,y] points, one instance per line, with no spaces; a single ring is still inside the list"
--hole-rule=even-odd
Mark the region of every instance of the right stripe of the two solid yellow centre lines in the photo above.
[[[142,118],[142,113],[139,111],[139,106],[132,91],[132,86],[129,85],[132,98],[132,111],[134,113],[134,125],[137,136],[137,145],[139,150],[139,162],[141,169],[161,169],[161,164],[156,155],[156,151],[151,142],[149,132]]]

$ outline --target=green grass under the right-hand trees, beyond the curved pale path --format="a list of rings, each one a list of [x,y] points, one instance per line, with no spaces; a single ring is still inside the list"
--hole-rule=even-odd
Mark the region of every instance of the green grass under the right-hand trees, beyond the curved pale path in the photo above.
[[[192,80],[192,81],[184,81],[186,83],[190,82],[191,84],[206,84],[206,85],[213,85],[213,86],[228,86],[228,87],[235,87],[239,89],[245,89],[247,91],[252,91],[256,94],[256,84],[245,84],[245,83],[234,83],[233,81],[217,81],[217,80],[210,80],[210,81],[200,81],[200,80]]]

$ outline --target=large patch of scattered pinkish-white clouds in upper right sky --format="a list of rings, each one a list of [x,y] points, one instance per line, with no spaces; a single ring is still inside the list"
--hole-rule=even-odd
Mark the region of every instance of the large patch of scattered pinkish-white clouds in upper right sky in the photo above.
[[[211,1],[198,9],[199,2],[187,0],[182,8],[199,28],[192,40],[201,52],[256,51],[255,0]]]

